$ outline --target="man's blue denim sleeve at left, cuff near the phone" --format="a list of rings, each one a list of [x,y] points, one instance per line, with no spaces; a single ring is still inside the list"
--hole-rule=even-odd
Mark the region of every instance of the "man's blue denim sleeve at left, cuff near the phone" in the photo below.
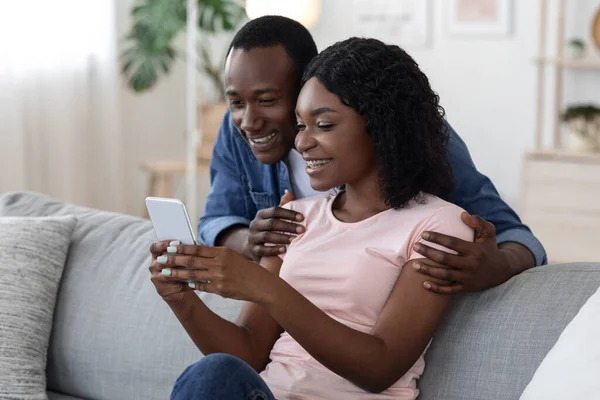
[[[204,213],[198,224],[200,242],[215,246],[217,237],[234,225],[249,226],[250,216],[246,206],[243,177],[236,157],[235,127],[229,110],[225,113],[210,161],[211,189],[206,199]]]

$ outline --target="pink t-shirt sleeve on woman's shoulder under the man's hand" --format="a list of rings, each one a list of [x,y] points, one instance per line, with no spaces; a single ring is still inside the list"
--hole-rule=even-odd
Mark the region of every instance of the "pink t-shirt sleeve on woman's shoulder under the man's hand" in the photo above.
[[[473,229],[467,226],[460,218],[460,215],[463,212],[464,210],[462,208],[454,204],[444,206],[437,210],[431,217],[427,219],[427,221],[425,221],[421,229],[418,229],[416,231],[416,234],[411,239],[410,247],[408,248],[409,254],[407,260],[425,258],[422,254],[417,253],[414,250],[414,245],[417,242],[426,244],[429,247],[443,250],[451,254],[456,254],[455,251],[450,250],[444,246],[424,240],[421,237],[421,234],[425,231],[442,233],[448,236],[454,236],[456,238],[472,242],[475,238],[475,233]]]

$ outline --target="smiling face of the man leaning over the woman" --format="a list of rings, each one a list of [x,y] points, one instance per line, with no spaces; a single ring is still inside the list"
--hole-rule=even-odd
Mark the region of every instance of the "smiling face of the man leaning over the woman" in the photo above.
[[[231,119],[263,164],[280,161],[294,146],[296,74],[282,46],[233,49],[227,57]]]

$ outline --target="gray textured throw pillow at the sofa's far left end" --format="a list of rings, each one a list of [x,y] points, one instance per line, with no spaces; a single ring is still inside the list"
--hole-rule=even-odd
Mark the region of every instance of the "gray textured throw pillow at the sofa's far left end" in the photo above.
[[[0,218],[0,398],[46,399],[46,354],[75,217]]]

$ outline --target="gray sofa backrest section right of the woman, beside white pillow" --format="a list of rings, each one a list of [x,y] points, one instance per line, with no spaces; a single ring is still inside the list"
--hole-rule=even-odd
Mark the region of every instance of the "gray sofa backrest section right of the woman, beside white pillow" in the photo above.
[[[598,287],[600,264],[574,263],[457,297],[426,354],[419,399],[518,399]]]

